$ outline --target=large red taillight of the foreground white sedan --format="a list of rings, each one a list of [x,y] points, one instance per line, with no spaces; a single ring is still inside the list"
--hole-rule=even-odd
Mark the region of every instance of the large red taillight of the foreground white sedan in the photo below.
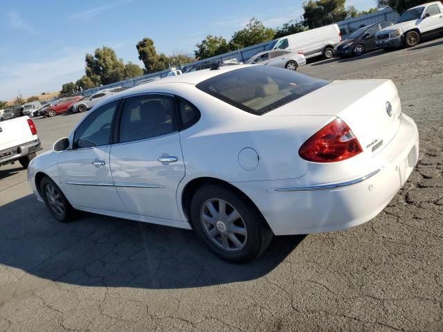
[[[356,156],[362,151],[359,140],[350,127],[336,118],[304,142],[298,154],[308,161],[334,163]]]

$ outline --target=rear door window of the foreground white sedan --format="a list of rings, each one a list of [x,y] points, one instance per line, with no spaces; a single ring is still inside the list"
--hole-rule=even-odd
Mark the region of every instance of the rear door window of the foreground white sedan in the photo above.
[[[119,142],[154,138],[177,129],[174,98],[167,95],[141,95],[125,100]]]

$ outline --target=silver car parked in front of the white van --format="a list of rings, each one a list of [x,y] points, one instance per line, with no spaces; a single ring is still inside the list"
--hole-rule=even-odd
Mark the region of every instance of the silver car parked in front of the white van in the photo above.
[[[266,50],[248,59],[246,64],[267,64],[296,71],[306,64],[306,57],[302,52],[291,50]]]

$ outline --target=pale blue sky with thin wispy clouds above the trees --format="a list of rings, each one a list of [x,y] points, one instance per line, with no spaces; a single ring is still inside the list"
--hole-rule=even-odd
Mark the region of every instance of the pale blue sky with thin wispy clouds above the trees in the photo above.
[[[230,39],[256,17],[276,28],[300,19],[302,0],[255,1],[1,0],[0,100],[60,91],[84,75],[84,55],[110,46],[125,62],[136,44],[154,40],[157,53],[193,53],[206,35]],[[213,4],[212,4],[213,3]],[[368,10],[375,0],[347,0]]]

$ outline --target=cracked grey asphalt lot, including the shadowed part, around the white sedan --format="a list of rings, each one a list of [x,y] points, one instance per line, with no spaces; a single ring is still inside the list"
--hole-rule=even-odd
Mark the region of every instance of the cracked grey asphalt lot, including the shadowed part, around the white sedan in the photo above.
[[[379,216],[275,238],[233,265],[191,231],[94,214],[57,223],[26,171],[1,167],[0,331],[443,331],[443,38],[300,71],[397,84],[420,160]],[[81,117],[36,119],[44,149]]]

